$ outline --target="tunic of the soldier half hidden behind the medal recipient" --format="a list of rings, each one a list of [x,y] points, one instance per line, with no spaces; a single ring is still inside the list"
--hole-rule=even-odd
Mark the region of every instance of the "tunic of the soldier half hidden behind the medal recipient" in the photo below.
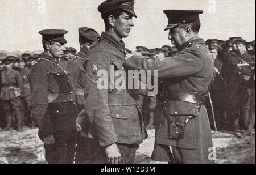
[[[85,56],[78,53],[77,56],[68,62],[67,70],[71,74],[71,84],[76,94],[78,105],[84,105],[84,88],[85,88]]]

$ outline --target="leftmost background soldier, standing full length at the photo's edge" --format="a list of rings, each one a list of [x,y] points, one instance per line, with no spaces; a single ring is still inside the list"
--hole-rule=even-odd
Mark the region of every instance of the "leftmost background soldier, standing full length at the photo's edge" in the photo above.
[[[16,57],[9,56],[3,60],[5,67],[1,72],[1,95],[3,109],[6,115],[6,127],[5,131],[10,130],[12,126],[13,111],[16,118],[18,131],[22,131],[22,112],[20,93],[22,91],[23,83],[20,73],[13,69],[13,63],[16,61]]]

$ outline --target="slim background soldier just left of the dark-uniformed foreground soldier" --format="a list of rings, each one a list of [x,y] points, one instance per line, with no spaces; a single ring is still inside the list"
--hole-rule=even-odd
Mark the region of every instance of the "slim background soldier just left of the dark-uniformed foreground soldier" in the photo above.
[[[19,58],[18,63],[19,63],[19,72],[20,75],[22,76],[22,81],[23,81],[23,87],[22,87],[22,93],[21,97],[24,103],[24,122],[28,127],[34,128],[35,127],[35,122],[34,118],[32,117],[31,114],[31,109],[30,109],[30,99],[31,99],[31,91],[30,91],[30,83],[28,82],[28,74],[30,74],[30,69],[26,67],[26,62],[27,59],[22,57]]]

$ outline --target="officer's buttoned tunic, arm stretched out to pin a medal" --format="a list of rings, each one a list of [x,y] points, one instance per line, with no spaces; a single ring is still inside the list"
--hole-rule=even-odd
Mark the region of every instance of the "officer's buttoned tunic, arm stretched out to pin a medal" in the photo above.
[[[187,149],[204,149],[212,146],[211,131],[205,106],[185,101],[162,101],[163,91],[207,92],[213,78],[213,59],[203,39],[194,37],[181,47],[174,57],[160,61],[148,57],[133,56],[124,64],[126,69],[158,70],[160,104],[156,108],[155,143]],[[185,125],[183,136],[177,138],[176,126],[184,124],[189,116],[195,117]],[[171,123],[172,122],[172,123]]]

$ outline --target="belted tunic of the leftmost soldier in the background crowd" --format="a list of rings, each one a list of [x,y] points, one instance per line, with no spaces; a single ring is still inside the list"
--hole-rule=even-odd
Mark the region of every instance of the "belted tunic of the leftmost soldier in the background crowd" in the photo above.
[[[13,100],[20,97],[21,88],[23,87],[22,77],[20,73],[14,69],[5,70],[1,72],[1,100]]]

